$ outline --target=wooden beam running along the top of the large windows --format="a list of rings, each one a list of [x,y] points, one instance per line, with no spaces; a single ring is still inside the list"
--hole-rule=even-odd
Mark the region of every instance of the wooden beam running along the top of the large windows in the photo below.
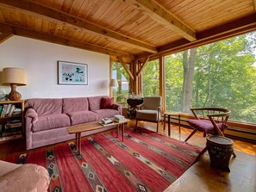
[[[168,45],[158,47],[159,53],[148,54],[143,53],[136,55],[136,59],[145,59],[150,56],[151,59],[159,57],[159,55],[177,53],[196,46],[203,46],[217,40],[224,40],[239,34],[245,34],[256,30],[256,16],[247,15],[237,21],[228,22],[216,28],[209,28],[197,34],[197,40],[190,42],[189,40],[177,40]]]

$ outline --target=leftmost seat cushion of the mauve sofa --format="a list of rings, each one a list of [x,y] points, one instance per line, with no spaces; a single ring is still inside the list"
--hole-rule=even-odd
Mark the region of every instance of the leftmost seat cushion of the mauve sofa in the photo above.
[[[68,126],[70,126],[70,118],[66,114],[43,115],[39,116],[38,121],[32,124],[32,131],[40,132]]]

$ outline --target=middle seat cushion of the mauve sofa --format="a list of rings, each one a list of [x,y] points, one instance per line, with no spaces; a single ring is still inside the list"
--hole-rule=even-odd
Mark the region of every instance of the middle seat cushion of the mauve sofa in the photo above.
[[[91,111],[77,111],[68,113],[67,115],[70,117],[72,125],[98,120],[98,115]]]

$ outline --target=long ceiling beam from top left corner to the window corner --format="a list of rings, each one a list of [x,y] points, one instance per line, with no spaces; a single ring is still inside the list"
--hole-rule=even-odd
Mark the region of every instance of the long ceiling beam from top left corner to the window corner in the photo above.
[[[47,16],[59,22],[64,22],[69,25],[75,26],[86,30],[91,34],[97,34],[109,40],[113,40],[130,47],[134,47],[143,50],[148,53],[157,53],[157,49],[154,46],[150,46],[140,40],[135,40],[126,35],[116,33],[115,31],[109,30],[108,28],[100,27],[92,22],[87,22],[78,17],[68,15],[65,12],[57,11],[55,9],[47,8],[38,3],[32,3],[24,0],[0,0],[0,5],[11,6],[16,9],[23,9],[34,14]]]

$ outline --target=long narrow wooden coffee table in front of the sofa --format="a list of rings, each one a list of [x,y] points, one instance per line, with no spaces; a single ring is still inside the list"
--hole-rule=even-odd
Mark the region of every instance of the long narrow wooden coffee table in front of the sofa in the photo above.
[[[78,153],[80,154],[80,152],[81,152],[81,133],[101,129],[103,127],[116,126],[116,137],[118,137],[119,127],[122,127],[122,140],[123,140],[124,125],[126,123],[128,123],[128,121],[130,121],[130,120],[126,119],[125,121],[113,122],[113,123],[110,123],[110,124],[104,125],[104,126],[99,124],[99,121],[92,121],[92,122],[86,122],[86,123],[81,123],[78,125],[70,126],[70,127],[67,127],[66,129],[67,129],[68,133],[76,134],[76,146],[78,148]]]

